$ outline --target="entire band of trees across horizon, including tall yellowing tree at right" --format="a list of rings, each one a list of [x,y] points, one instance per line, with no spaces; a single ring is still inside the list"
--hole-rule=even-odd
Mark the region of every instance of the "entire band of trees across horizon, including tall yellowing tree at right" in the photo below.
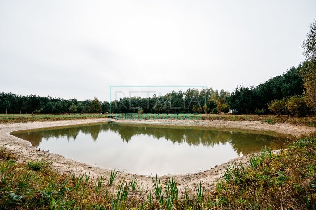
[[[171,91],[166,95],[154,95],[149,98],[125,97],[107,101],[78,101],[41,97],[38,95],[17,95],[0,92],[0,113],[227,113],[229,109],[239,114],[265,111],[281,115],[304,116],[310,110],[316,111],[316,22],[310,25],[307,39],[302,48],[305,62],[298,67],[291,67],[285,73],[277,75],[257,86],[236,87],[228,91],[210,88],[186,91]],[[302,96],[303,95],[303,96]]]

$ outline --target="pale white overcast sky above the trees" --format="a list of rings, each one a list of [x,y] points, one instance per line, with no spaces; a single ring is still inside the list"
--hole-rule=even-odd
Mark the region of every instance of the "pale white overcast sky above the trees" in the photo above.
[[[0,91],[257,85],[303,61],[316,1],[0,0]],[[171,88],[172,89],[172,88]]]

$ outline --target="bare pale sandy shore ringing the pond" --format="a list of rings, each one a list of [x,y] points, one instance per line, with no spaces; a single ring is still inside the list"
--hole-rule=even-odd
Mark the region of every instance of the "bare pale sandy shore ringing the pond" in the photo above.
[[[45,151],[38,151],[35,148],[31,147],[31,143],[28,141],[21,140],[13,135],[10,135],[10,132],[24,129],[35,129],[35,128],[45,128],[45,127],[56,127],[56,126],[66,126],[66,125],[76,125],[76,124],[84,124],[84,123],[98,123],[98,122],[107,122],[109,118],[100,118],[100,119],[84,119],[84,120],[63,120],[63,121],[53,121],[53,122],[32,122],[32,123],[10,123],[10,124],[0,124],[0,144],[4,145],[14,151],[15,153],[20,155],[21,161],[27,161],[28,159],[35,159],[39,157],[52,158],[55,162],[52,164],[52,168],[61,173],[68,174],[71,172],[75,172],[78,175],[82,175],[85,172],[91,171],[91,176],[96,178],[100,176],[102,173],[106,175],[106,183],[108,181],[109,170],[96,167],[93,165],[89,165],[86,163],[78,162],[76,160],[72,160],[66,158],[64,156],[49,153]],[[307,128],[305,126],[295,126],[286,123],[276,123],[273,125],[269,125],[267,123],[261,123],[260,121],[225,121],[225,120],[207,120],[207,121],[190,121],[190,120],[142,120],[142,121],[131,121],[131,120],[113,120],[115,122],[120,123],[165,123],[177,125],[177,126],[198,126],[198,127],[215,127],[215,128],[241,128],[241,129],[253,129],[253,130],[270,130],[276,131],[282,134],[289,135],[302,135],[307,134],[313,131],[316,131],[315,128]],[[174,177],[179,182],[179,187],[187,186],[191,188],[193,183],[198,183],[200,180],[205,184],[206,187],[211,186],[217,177],[220,177],[221,172],[226,168],[226,165],[232,163],[236,160],[240,160],[243,164],[247,164],[249,157],[241,156],[236,159],[232,159],[227,163],[222,165],[217,165],[214,168],[209,170],[195,173],[195,174],[177,174]],[[129,179],[131,174],[121,172],[116,178],[116,184],[119,182],[118,180],[127,178]],[[164,179],[162,177],[162,179]],[[151,183],[151,177],[146,176],[138,176],[138,183],[143,183],[145,188],[146,182]],[[110,190],[115,191],[115,184],[110,187]]]

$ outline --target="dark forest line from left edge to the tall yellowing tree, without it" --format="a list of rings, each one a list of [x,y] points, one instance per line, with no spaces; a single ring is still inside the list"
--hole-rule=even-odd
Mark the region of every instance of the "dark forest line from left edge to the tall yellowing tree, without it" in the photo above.
[[[17,95],[0,92],[1,113],[44,113],[44,114],[87,114],[87,113],[227,113],[229,109],[239,114],[254,114],[258,109],[268,110],[268,104],[275,99],[303,93],[303,81],[298,76],[301,66],[292,67],[284,74],[275,76],[256,87],[236,87],[233,93],[189,88],[186,91],[171,91],[166,95],[149,98],[125,97],[110,103],[93,100],[41,97],[38,95]]]

